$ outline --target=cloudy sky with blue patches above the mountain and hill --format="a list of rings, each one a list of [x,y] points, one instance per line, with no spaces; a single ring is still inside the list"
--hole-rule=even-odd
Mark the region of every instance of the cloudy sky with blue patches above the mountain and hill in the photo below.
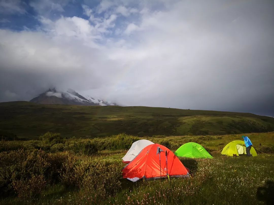
[[[274,116],[274,1],[0,0],[0,102],[53,87]]]

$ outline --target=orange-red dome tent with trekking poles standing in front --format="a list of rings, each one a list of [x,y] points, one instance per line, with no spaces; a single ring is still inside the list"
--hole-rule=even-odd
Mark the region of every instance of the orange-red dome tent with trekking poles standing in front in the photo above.
[[[189,177],[188,170],[178,157],[168,148],[159,144],[145,147],[122,169],[123,178],[133,182],[141,178],[157,179],[167,177],[167,174],[169,177]]]

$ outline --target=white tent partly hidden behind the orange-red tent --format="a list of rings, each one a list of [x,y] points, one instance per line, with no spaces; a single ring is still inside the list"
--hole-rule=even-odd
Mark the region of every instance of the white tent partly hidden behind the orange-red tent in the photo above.
[[[136,142],[133,142],[127,154],[122,158],[124,163],[131,162],[146,146],[154,144],[146,139],[141,139]]]

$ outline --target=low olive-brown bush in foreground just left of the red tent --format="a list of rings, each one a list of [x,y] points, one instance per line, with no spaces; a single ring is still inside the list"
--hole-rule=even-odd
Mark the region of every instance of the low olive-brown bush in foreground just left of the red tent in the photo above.
[[[121,167],[116,163],[107,164],[91,159],[79,162],[79,159],[69,157],[64,163],[61,179],[66,186],[76,186],[93,196],[104,198],[121,188]]]

